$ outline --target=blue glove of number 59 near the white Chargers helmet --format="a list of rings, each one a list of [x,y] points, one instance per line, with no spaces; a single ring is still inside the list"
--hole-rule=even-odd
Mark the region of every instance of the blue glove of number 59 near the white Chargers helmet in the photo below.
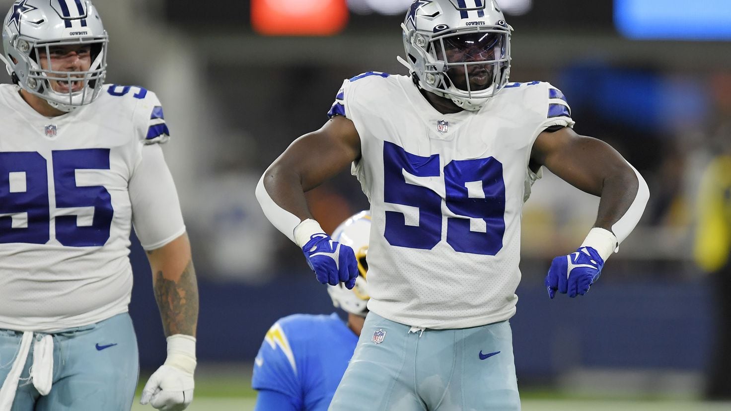
[[[338,243],[327,234],[314,234],[302,247],[307,265],[322,284],[338,285],[345,283],[350,290],[358,277],[358,263],[355,252],[349,246]]]

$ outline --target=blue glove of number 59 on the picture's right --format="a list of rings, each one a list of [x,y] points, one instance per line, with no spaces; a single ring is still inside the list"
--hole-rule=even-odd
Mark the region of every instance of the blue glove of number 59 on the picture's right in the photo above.
[[[556,257],[550,264],[546,276],[548,296],[553,298],[558,293],[569,293],[569,297],[584,295],[594,284],[604,267],[604,260],[593,247],[581,247],[569,255]]]

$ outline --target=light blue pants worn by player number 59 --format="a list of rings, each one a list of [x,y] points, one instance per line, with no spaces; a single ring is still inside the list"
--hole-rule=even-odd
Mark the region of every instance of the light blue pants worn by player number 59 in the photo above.
[[[520,410],[510,323],[414,332],[370,312],[329,410]]]

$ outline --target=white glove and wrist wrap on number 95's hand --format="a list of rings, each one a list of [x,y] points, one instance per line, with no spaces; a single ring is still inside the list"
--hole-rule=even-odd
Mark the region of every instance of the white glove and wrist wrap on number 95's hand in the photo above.
[[[167,337],[167,359],[145,384],[140,404],[163,411],[185,410],[193,401],[195,365],[195,337]]]

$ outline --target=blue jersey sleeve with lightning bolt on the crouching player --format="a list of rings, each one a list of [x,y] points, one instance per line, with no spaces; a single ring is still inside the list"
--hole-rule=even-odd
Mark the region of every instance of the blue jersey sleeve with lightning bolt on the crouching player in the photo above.
[[[295,353],[279,321],[267,331],[262,347],[254,360],[251,387],[257,391],[270,390],[283,393],[292,399],[292,403],[302,402]]]

